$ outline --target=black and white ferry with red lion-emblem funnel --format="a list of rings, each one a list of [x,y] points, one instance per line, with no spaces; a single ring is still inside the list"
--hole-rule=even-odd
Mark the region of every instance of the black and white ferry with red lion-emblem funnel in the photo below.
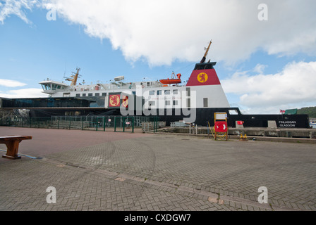
[[[52,115],[142,115],[157,116],[160,121],[183,121],[200,126],[214,124],[214,113],[226,113],[229,127],[268,127],[274,121],[277,127],[309,128],[308,115],[244,115],[231,107],[214,67],[206,62],[212,44],[196,63],[188,82],[183,84],[181,74],[171,78],[146,82],[125,82],[124,76],[113,82],[78,83],[80,68],[64,82],[46,79],[39,84],[47,98],[0,98],[0,108],[28,109],[30,117]]]

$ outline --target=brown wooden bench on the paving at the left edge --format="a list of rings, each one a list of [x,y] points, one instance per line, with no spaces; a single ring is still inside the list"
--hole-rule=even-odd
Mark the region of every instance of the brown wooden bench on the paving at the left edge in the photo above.
[[[2,158],[10,160],[20,159],[18,156],[18,145],[23,140],[30,140],[32,136],[0,136],[0,143],[6,144],[6,155],[2,155]]]

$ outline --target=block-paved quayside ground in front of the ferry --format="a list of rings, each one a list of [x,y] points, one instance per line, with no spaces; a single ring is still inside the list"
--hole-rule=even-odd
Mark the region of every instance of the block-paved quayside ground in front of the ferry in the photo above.
[[[315,144],[0,127],[15,134],[42,159],[0,158],[0,210],[316,210]]]

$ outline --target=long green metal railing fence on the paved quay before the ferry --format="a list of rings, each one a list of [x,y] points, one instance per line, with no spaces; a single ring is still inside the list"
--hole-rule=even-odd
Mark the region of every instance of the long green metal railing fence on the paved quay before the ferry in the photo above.
[[[142,124],[152,124],[151,131],[159,128],[159,117],[142,116],[51,116],[0,118],[0,126],[45,129],[80,129],[95,131],[134,132]]]

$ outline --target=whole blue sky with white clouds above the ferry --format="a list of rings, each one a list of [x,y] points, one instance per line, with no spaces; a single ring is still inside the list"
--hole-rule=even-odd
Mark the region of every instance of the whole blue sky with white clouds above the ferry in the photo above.
[[[316,5],[265,2],[266,21],[261,1],[0,1],[0,97],[44,96],[38,82],[76,67],[86,84],[188,79],[212,39],[207,58],[229,103],[245,113],[315,106]]]

